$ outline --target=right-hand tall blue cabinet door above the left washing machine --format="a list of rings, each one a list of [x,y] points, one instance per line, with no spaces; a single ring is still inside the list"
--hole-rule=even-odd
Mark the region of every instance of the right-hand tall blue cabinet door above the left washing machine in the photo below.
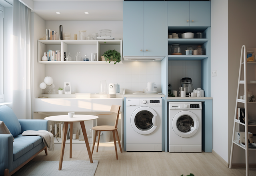
[[[144,56],[165,56],[165,2],[144,2]]]

